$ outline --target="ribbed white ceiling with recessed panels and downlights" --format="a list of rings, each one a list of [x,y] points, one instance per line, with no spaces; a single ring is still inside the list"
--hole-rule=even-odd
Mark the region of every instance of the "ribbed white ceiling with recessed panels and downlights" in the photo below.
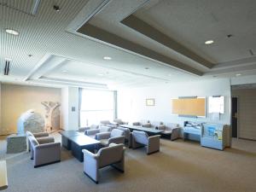
[[[253,0],[0,0],[0,81],[117,89],[255,75],[255,9]]]

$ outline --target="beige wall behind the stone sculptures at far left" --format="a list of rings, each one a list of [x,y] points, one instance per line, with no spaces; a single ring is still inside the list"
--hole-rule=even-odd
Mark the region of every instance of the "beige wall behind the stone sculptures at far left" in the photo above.
[[[0,134],[17,132],[17,120],[28,109],[34,109],[44,116],[45,108],[41,102],[61,103],[61,89],[17,84],[2,84],[1,88]]]

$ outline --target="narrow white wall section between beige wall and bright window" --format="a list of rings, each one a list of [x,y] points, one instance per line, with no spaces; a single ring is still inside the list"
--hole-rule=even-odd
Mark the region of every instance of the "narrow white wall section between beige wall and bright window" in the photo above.
[[[61,128],[63,130],[79,129],[79,88],[66,87],[61,89]],[[75,111],[72,111],[75,108]]]

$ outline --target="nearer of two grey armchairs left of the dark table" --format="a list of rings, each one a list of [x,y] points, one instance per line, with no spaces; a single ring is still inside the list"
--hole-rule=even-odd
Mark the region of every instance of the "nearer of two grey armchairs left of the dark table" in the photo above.
[[[28,137],[31,143],[33,166],[45,166],[61,161],[61,143],[55,143],[54,137]]]

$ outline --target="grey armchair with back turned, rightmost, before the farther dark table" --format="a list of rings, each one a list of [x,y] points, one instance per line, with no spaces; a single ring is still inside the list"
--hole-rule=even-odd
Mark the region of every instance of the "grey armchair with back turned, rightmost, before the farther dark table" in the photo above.
[[[132,131],[132,148],[146,146],[147,154],[160,151],[160,135],[148,137],[144,131]]]

